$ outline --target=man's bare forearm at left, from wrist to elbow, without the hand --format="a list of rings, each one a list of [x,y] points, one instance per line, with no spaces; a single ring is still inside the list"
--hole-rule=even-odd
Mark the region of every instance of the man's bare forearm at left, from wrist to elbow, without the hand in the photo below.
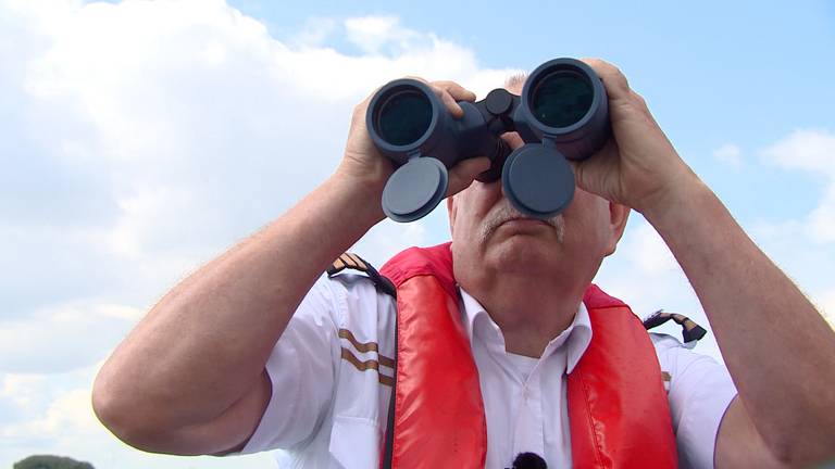
[[[159,420],[150,427],[220,416],[261,379],[315,279],[382,218],[378,192],[331,178],[166,294],[105,363],[96,392]]]

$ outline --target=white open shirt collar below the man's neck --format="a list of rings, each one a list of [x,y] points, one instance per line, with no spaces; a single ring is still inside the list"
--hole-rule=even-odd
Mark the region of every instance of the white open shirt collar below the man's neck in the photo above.
[[[476,299],[470,295],[470,293],[468,293],[464,289],[460,289],[460,291],[464,309],[463,317],[466,327],[466,334],[470,339],[470,345],[472,346],[473,343],[473,331],[476,322],[486,320],[486,326],[488,326],[487,329],[494,332],[486,334],[488,337],[485,337],[483,340],[490,342],[488,345],[493,345],[494,347],[498,346],[501,348],[501,351],[503,351],[504,337],[501,334],[501,330],[499,329],[498,325],[493,320],[490,315],[487,314],[487,310],[484,309],[484,306],[482,306],[482,304],[478,303]],[[543,353],[543,357],[550,355],[553,353],[553,351],[564,345],[566,347],[568,358],[565,372],[570,373],[574,370],[574,367],[583,357],[583,354],[588,348],[589,343],[591,343],[591,320],[588,317],[588,309],[586,309],[586,305],[583,302],[579,302],[579,307],[577,308],[577,314],[574,315],[574,320],[562,333],[560,333],[548,343],[545,352]]]

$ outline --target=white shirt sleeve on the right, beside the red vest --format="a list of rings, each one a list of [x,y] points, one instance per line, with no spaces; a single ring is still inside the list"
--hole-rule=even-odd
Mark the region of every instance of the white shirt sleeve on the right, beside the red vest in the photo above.
[[[736,388],[723,365],[686,348],[671,335],[651,333],[670,400],[678,464],[712,468],[716,434]]]

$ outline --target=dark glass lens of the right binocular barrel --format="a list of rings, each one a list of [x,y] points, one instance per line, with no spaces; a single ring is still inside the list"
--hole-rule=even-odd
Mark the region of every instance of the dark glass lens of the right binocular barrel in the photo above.
[[[556,71],[531,93],[534,117],[549,127],[569,127],[582,119],[595,98],[591,84],[573,71]]]

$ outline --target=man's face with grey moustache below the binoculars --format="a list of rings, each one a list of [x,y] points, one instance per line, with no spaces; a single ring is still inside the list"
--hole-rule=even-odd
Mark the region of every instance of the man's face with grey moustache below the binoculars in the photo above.
[[[502,138],[514,150],[524,144],[515,132]],[[578,188],[569,207],[549,220],[513,208],[500,180],[474,181],[449,210],[456,278],[465,288],[468,279],[491,267],[588,282],[614,249],[609,203]]]

